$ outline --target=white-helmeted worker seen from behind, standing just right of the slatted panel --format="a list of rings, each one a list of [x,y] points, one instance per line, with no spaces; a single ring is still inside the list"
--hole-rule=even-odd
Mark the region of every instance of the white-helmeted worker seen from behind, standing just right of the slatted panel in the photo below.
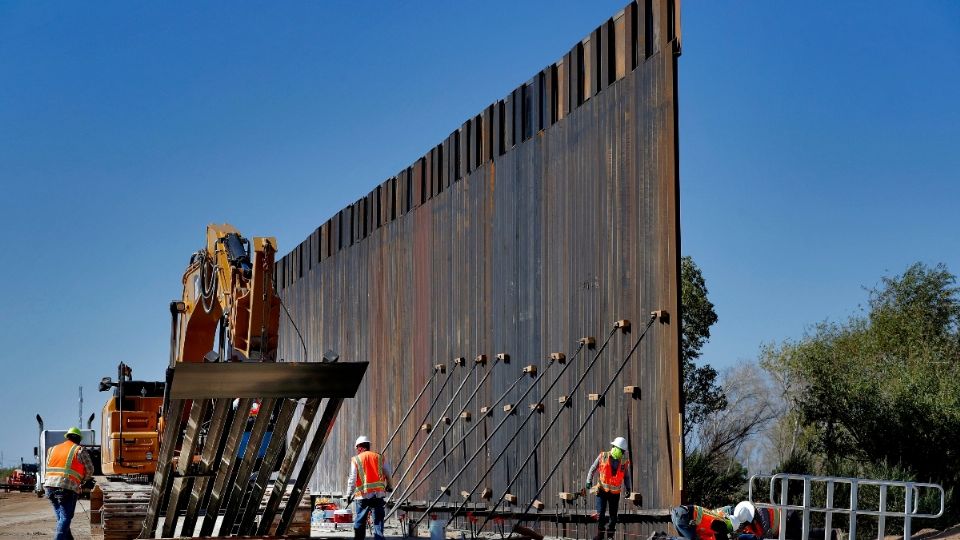
[[[373,512],[373,538],[383,540],[385,497],[393,491],[390,465],[382,455],[370,451],[370,439],[357,437],[354,443],[357,455],[350,459],[350,476],[347,478],[347,504],[356,502],[353,512],[353,537],[363,540],[367,534],[367,516]]]

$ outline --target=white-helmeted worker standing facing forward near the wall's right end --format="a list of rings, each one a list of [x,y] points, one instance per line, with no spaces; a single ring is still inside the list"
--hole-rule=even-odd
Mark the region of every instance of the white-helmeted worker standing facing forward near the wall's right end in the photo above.
[[[604,537],[604,528],[606,536],[613,538],[617,527],[617,514],[620,505],[620,490],[626,488],[627,492],[633,491],[633,480],[630,478],[630,460],[624,456],[627,451],[627,440],[623,437],[617,437],[610,443],[609,452],[600,452],[597,459],[593,461],[590,470],[587,471],[587,491],[596,491],[597,494],[597,514],[600,519],[597,535],[594,537],[600,540]],[[593,477],[599,473],[599,481],[594,484]],[[607,514],[610,516],[609,526],[607,525]]]

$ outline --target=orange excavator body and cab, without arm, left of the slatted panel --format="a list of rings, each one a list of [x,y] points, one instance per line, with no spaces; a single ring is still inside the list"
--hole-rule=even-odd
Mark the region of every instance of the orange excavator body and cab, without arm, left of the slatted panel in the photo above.
[[[110,377],[100,381],[101,392],[113,389],[100,415],[103,474],[156,472],[164,387],[163,382],[133,380],[133,370],[122,362],[116,381]]]

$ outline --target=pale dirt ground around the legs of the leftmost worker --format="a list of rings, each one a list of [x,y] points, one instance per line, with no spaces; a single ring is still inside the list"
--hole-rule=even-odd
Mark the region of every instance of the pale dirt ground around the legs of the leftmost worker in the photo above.
[[[90,539],[90,523],[86,511],[90,501],[77,501],[70,530],[77,540]],[[53,507],[47,499],[33,493],[0,493],[0,538],[52,537],[57,527]]]

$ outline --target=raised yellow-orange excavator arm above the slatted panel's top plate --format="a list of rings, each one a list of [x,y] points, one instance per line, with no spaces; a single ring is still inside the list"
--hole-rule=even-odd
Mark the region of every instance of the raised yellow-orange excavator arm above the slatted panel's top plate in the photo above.
[[[231,225],[207,226],[206,246],[190,257],[174,316],[170,366],[203,362],[218,326],[232,361],[276,361],[280,299],[274,288],[276,239],[251,242]]]

